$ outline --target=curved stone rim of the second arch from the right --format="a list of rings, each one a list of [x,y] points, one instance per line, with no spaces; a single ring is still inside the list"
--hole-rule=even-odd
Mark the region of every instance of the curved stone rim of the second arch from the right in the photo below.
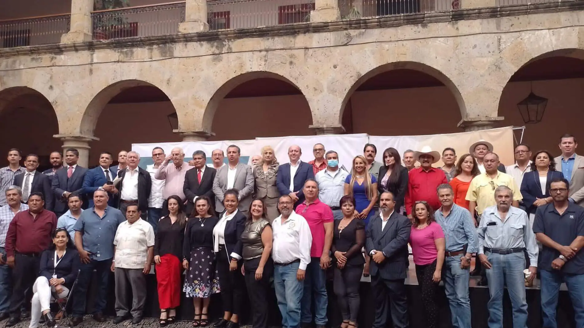
[[[349,90],[347,90],[347,92],[345,93],[345,97],[343,98],[343,101],[341,103],[341,107],[339,110],[339,116],[338,116],[339,123],[342,123],[343,112],[345,111],[345,107],[346,107],[347,102],[349,102],[350,97],[359,88],[359,86],[361,86],[363,83],[365,83],[370,78],[373,78],[373,76],[376,76],[376,75],[384,73],[384,72],[393,71],[395,69],[412,69],[414,71],[423,72],[427,75],[432,76],[433,78],[436,78],[437,80],[442,82],[444,84],[444,86],[446,86],[446,88],[448,88],[450,90],[450,92],[454,96],[454,99],[456,99],[456,102],[458,104],[458,109],[460,109],[461,117],[464,118],[466,116],[467,107],[464,103],[463,96],[461,95],[460,90],[458,90],[458,87],[454,84],[454,82],[446,74],[444,74],[442,71],[439,71],[439,69],[433,68],[433,67],[426,65],[426,64],[423,64],[421,62],[398,61],[398,62],[390,62],[388,64],[383,64],[383,65],[377,66],[376,68],[373,68],[370,71],[366,72],[365,74],[359,76],[359,78],[357,78],[356,81],[353,82],[353,84],[351,85]]]

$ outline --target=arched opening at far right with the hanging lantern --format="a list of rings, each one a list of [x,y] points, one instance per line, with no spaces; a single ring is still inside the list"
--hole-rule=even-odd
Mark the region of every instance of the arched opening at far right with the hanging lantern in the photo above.
[[[559,138],[573,134],[584,139],[584,50],[554,51],[530,60],[507,82],[499,100],[504,126],[525,125],[523,142],[533,151],[547,149],[559,155]],[[526,124],[517,106],[533,92],[547,99],[538,123]]]

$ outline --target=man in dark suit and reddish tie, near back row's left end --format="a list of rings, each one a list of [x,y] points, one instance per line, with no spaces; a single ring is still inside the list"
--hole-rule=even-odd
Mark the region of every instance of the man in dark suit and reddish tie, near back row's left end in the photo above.
[[[55,197],[54,212],[57,217],[65,214],[69,209],[67,205],[67,197],[71,193],[82,194],[83,179],[85,177],[86,168],[77,165],[79,161],[79,151],[75,148],[69,148],[65,151],[65,166],[55,172],[53,176],[53,195]],[[85,204],[86,197],[83,196],[84,210],[87,208]]]

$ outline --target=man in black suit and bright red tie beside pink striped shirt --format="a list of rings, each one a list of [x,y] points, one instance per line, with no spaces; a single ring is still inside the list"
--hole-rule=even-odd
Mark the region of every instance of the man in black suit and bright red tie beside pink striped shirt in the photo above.
[[[185,197],[187,200],[187,216],[193,211],[194,201],[200,196],[207,196],[211,199],[211,204],[215,204],[215,194],[213,193],[213,180],[217,170],[206,166],[207,155],[203,151],[193,153],[194,170],[188,170],[185,175]]]

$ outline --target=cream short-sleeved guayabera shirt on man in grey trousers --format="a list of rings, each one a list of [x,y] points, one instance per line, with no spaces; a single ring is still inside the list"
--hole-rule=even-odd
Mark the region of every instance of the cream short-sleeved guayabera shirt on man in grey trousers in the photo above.
[[[148,260],[148,247],[154,246],[154,229],[142,219],[133,224],[124,221],[117,226],[113,245],[116,245],[116,268],[144,268]]]

